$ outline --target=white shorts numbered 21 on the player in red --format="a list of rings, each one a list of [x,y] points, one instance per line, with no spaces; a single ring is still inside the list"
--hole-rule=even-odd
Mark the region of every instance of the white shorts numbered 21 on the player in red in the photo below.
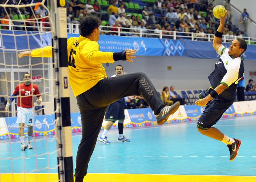
[[[18,111],[18,119],[17,123],[26,123],[27,125],[34,125],[34,107],[32,108],[24,108],[17,107]]]

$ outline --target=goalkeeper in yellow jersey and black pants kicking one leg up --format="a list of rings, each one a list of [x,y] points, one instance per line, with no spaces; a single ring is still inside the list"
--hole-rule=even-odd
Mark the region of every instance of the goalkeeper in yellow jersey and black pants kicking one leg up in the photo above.
[[[142,95],[154,111],[158,124],[166,122],[180,102],[165,107],[155,87],[143,73],[133,73],[108,78],[102,63],[114,63],[118,60],[133,62],[136,50],[122,52],[99,51],[100,20],[95,16],[86,16],[79,24],[79,37],[67,40],[69,82],[81,114],[82,139],[76,155],[76,182],[82,182],[87,173],[88,163],[108,105],[120,98]],[[19,53],[19,57],[52,57],[52,47]],[[121,86],[120,86],[121,85]]]

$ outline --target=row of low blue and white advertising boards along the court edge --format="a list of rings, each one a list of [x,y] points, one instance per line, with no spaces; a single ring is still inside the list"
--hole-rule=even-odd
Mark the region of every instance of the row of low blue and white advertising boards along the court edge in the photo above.
[[[196,105],[180,106],[178,110],[170,115],[166,124],[179,123],[188,121],[197,121],[204,107]],[[238,116],[256,115],[256,100],[234,102],[233,105],[226,110],[222,118],[233,118]],[[55,134],[55,115],[36,115],[34,120],[33,136],[54,135]],[[108,121],[103,120],[102,130]],[[125,110],[124,127],[140,127],[157,125],[157,119],[151,108],[129,109]],[[19,124],[17,117],[0,118],[0,139],[19,138]],[[72,132],[82,131],[82,120],[79,112],[71,113]],[[114,123],[112,129],[117,128]],[[27,127],[24,129],[27,136]]]

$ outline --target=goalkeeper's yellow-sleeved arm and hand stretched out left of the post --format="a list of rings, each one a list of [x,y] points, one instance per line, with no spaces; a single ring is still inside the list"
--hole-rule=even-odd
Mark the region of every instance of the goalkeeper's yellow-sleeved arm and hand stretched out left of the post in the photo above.
[[[39,48],[33,51],[24,51],[18,54],[19,58],[23,56],[40,57],[40,58],[52,58],[52,46]]]

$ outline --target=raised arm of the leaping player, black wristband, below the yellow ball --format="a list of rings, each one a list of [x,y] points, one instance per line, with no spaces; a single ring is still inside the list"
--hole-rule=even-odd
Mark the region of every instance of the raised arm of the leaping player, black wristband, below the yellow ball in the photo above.
[[[225,20],[227,16],[227,11],[226,15],[220,19],[219,21],[219,27],[217,29],[217,32],[215,33],[215,36],[213,38],[212,42],[212,47],[218,52],[219,55],[221,55],[221,51],[223,50],[223,45],[222,45],[222,31],[225,26]]]

